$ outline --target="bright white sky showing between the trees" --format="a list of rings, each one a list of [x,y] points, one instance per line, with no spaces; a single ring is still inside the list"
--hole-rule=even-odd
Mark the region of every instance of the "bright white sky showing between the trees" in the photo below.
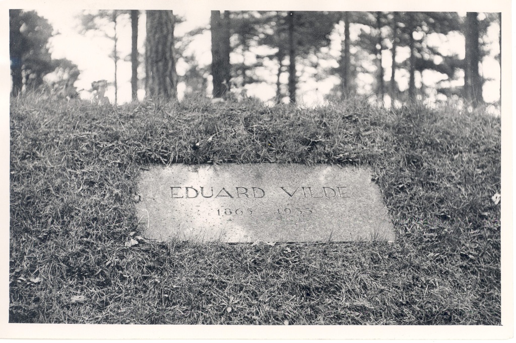
[[[92,81],[106,79],[109,82],[114,80],[114,62],[108,57],[112,51],[112,41],[102,37],[98,32],[87,32],[87,34],[79,34],[79,20],[77,19],[80,15],[79,10],[68,11],[66,15],[62,15],[62,12],[55,11],[53,8],[40,8],[37,10],[38,14],[49,20],[59,35],[51,38],[51,53],[53,58],[67,58],[77,64],[80,70],[79,79],[76,81],[75,86],[80,91],[81,97],[88,99],[91,96],[89,92],[91,90]],[[174,14],[179,14],[185,18],[183,23],[176,25],[174,34],[181,36],[185,32],[196,28],[196,27],[207,27],[209,25],[209,10],[192,10],[183,9],[174,11]],[[122,21],[121,21],[122,22]],[[332,34],[332,42],[330,47],[327,49],[327,53],[334,59],[327,61],[320,61],[326,63],[329,67],[336,67],[338,65],[337,60],[341,54],[341,39],[343,36],[343,23],[337,25],[334,34]],[[351,40],[357,38],[360,27],[353,25],[351,27]],[[488,30],[488,44],[490,46],[490,54],[482,62],[481,72],[483,77],[488,79],[483,88],[483,96],[487,103],[495,102],[499,99],[499,77],[500,70],[498,61],[494,58],[499,51],[498,47],[498,30],[497,24],[492,24]],[[139,20],[139,37],[138,46],[140,52],[143,51],[144,44],[144,32],[145,32],[145,15],[140,15]],[[124,103],[131,101],[131,63],[128,58],[124,61],[123,58],[130,54],[131,49],[131,25],[127,21],[126,25],[119,25],[117,29],[117,35],[119,37],[118,50],[121,53],[122,60],[118,62],[118,103]],[[464,56],[464,38],[459,34],[451,34],[448,36],[444,35],[431,35],[428,37],[429,44],[436,45],[446,53],[456,53],[461,58]],[[211,34],[209,30],[206,30],[204,34],[199,35],[188,47],[187,54],[195,53],[198,60],[199,66],[207,66],[211,63]],[[383,52],[383,67],[385,69],[385,80],[390,79],[391,75],[391,53],[387,50]],[[408,48],[400,49],[397,53],[397,62],[401,62],[408,57]],[[237,54],[232,55],[232,62],[241,61],[243,57]],[[253,56],[246,56],[246,61],[250,62]],[[269,61],[269,69],[265,68],[260,70],[261,76],[269,81],[267,83],[247,85],[246,91],[248,95],[259,97],[263,101],[268,101],[271,97],[275,96],[275,83],[276,83],[276,70],[277,64]],[[183,75],[187,65],[178,61],[176,69],[178,74]],[[369,66],[373,68],[373,66]],[[315,75],[316,70],[310,70],[305,68],[305,73],[299,79],[298,84],[298,102],[307,106],[314,106],[321,104],[324,101],[326,94],[330,90],[340,83],[340,79],[337,76],[329,76],[324,80],[315,81],[310,75]],[[143,75],[143,66],[140,65],[139,75]],[[281,76],[282,83],[287,83],[287,73],[283,73]],[[208,79],[211,76],[208,76]],[[442,75],[432,72],[424,72],[421,77],[416,76],[416,86],[422,83],[427,86],[434,85],[437,81],[442,79]],[[398,70],[396,75],[400,90],[408,88],[408,72],[405,70]],[[368,94],[373,91],[372,83],[374,76],[372,74],[360,74],[358,77],[358,85],[360,91],[363,94]],[[455,84],[460,86],[461,84]],[[185,85],[178,84],[178,96],[181,100],[184,94]],[[211,92],[211,85],[208,82],[208,96]],[[114,103],[115,94],[114,87],[108,88],[106,95],[109,97],[111,103]],[[139,90],[138,97],[143,99],[144,90]],[[439,96],[437,96],[439,97]],[[430,96],[430,100],[434,100]]]

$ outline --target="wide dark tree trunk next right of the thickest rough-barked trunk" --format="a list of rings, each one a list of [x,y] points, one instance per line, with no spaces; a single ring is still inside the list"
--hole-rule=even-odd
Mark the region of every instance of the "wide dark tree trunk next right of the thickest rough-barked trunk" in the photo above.
[[[230,90],[230,13],[212,11],[212,76],[213,97],[223,97]],[[244,75],[245,77],[245,75]]]

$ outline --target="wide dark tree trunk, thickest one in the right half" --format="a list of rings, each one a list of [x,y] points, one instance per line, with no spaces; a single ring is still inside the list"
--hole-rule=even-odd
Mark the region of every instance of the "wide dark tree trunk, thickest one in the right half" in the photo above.
[[[464,88],[466,99],[473,106],[480,104],[482,100],[482,79],[478,74],[480,52],[478,48],[478,20],[477,12],[466,13],[466,54],[464,69]]]

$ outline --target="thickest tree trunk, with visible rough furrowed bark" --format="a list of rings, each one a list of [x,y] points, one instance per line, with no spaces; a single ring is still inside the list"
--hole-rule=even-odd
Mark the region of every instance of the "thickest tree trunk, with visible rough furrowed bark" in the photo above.
[[[147,11],[146,96],[176,100],[174,60],[174,14],[169,10]]]

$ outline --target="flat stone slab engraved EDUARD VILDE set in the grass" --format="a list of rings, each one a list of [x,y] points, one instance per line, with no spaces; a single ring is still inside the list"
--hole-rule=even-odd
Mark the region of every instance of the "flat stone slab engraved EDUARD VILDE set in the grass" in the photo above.
[[[150,239],[307,242],[395,238],[380,190],[366,168],[176,164],[144,169],[136,210],[138,225]]]

